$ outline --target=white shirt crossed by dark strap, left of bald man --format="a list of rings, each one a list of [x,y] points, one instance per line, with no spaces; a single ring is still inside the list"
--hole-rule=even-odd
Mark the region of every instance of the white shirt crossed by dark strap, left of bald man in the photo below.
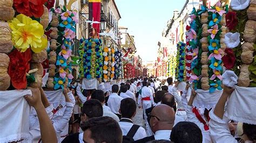
[[[122,119],[131,120],[131,119],[128,119],[128,118],[122,118]],[[130,131],[132,125],[134,125],[131,122],[125,122],[125,121],[119,121],[118,123],[119,123],[119,126],[120,126],[121,130],[122,130],[123,135],[127,135],[127,133]],[[143,139],[145,137],[147,137],[145,129],[143,127],[139,127],[137,132],[133,136],[133,140],[136,141],[136,140],[139,140],[139,139]]]

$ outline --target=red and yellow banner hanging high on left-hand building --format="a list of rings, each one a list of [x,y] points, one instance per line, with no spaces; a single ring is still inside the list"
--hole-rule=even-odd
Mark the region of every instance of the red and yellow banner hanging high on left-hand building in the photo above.
[[[101,2],[102,2],[101,0],[89,0],[89,21],[100,22],[100,12],[102,9]],[[96,31],[99,33],[99,30],[100,30],[99,23],[93,23],[92,27],[95,28]],[[89,28],[91,28],[90,24],[89,24]]]

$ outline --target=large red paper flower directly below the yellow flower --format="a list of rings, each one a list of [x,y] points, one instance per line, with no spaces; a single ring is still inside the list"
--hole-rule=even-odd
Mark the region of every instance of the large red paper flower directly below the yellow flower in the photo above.
[[[11,77],[11,84],[17,90],[23,90],[27,84],[26,73],[30,70],[31,50],[19,52],[15,49],[8,56],[10,58],[8,74]]]

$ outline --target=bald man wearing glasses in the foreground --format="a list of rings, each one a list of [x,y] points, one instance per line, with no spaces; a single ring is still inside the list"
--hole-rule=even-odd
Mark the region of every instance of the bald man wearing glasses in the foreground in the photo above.
[[[165,104],[160,104],[154,107],[149,115],[150,127],[154,135],[137,140],[135,143],[151,140],[170,140],[175,120],[175,112],[173,108]]]

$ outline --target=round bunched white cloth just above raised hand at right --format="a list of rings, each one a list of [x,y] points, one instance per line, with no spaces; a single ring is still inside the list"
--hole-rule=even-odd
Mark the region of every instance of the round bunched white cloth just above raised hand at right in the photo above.
[[[234,87],[235,84],[237,84],[238,77],[234,73],[234,71],[225,71],[222,75],[223,80],[222,83],[223,85],[226,85],[228,87]]]

